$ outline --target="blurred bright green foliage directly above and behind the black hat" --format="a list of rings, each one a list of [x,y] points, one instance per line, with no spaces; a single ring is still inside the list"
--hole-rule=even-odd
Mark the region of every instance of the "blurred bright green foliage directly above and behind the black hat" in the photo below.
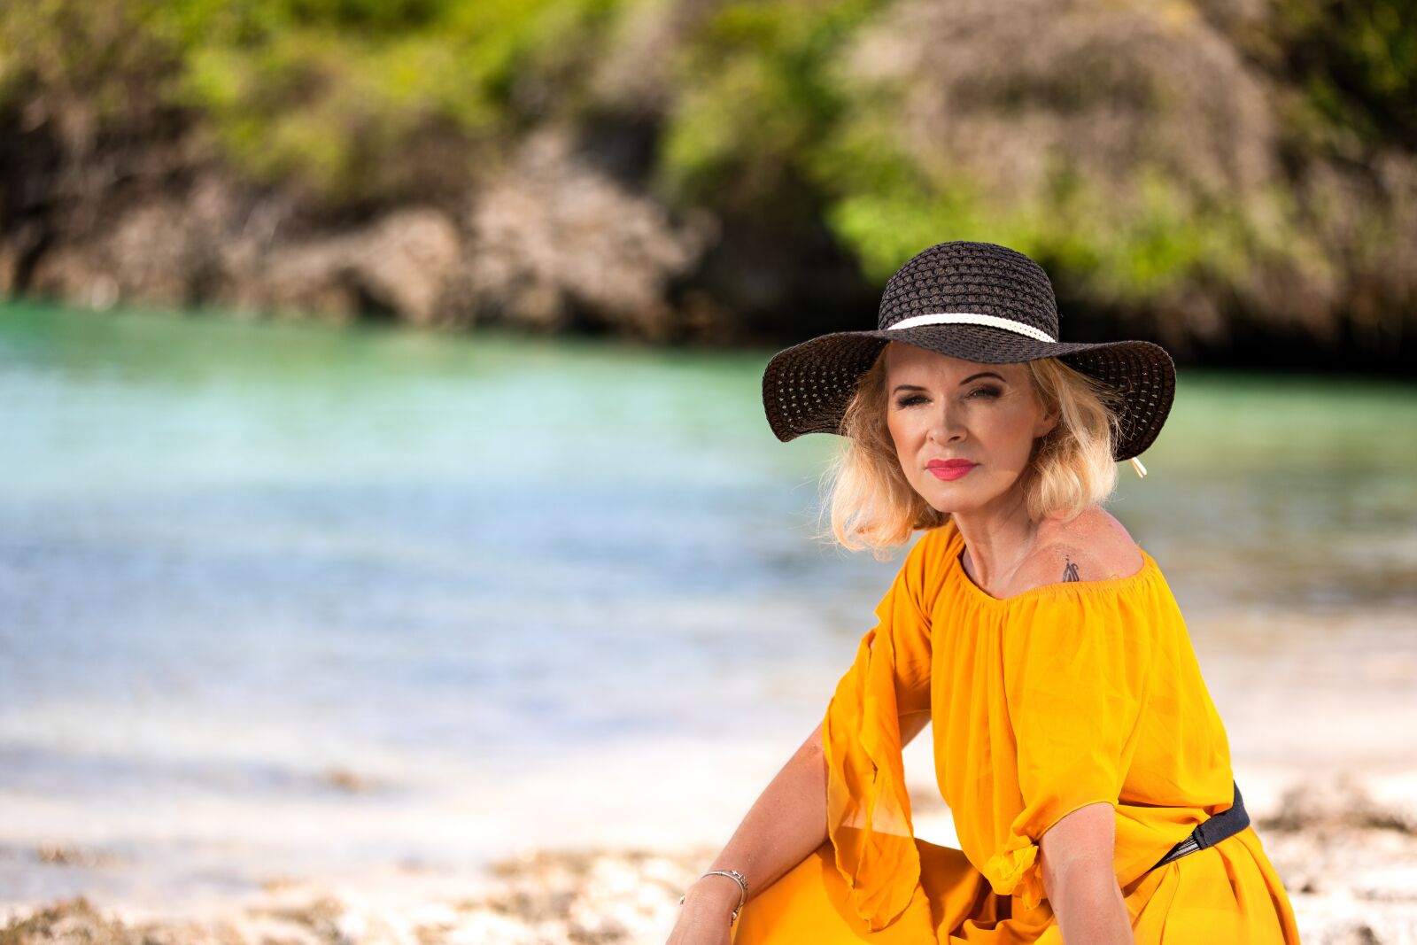
[[[660,190],[761,217],[809,186],[863,273],[884,282],[941,234],[988,234],[1064,264],[1094,295],[1145,303],[1195,275],[1244,265],[1254,238],[1234,207],[1206,201],[1165,170],[1138,167],[1141,213],[1100,225],[1114,197],[1061,160],[1039,198],[1000,204],[956,169],[898,147],[900,89],[845,75],[840,52],[881,0],[718,4],[679,61]]]

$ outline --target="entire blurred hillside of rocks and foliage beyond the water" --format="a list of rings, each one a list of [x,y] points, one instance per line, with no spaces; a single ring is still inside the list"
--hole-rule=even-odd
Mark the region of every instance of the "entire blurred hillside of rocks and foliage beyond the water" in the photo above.
[[[743,343],[990,239],[1078,340],[1410,357],[1386,4],[13,6],[0,298]]]

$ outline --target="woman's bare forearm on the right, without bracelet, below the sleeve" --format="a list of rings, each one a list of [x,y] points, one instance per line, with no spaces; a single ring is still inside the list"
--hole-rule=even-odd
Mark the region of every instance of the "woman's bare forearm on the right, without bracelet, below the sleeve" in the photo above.
[[[1135,945],[1112,873],[1115,830],[1112,805],[1090,803],[1058,819],[1039,839],[1043,888],[1068,945]]]

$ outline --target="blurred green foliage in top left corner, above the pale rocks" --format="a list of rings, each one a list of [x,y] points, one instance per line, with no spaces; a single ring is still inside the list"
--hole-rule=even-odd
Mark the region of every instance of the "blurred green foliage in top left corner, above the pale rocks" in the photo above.
[[[258,183],[340,203],[398,198],[574,88],[615,0],[20,0],[0,10],[0,95],[72,91],[200,115]],[[451,166],[449,166],[451,162]]]

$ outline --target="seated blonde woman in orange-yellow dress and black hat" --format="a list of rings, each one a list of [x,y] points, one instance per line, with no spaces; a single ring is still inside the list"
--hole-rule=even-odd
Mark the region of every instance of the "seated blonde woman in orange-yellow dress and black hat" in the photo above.
[[[1176,601],[1101,509],[1117,462],[1145,475],[1172,360],[1057,337],[1040,266],[945,242],[877,330],[769,361],[777,436],[845,438],[836,538],[925,531],[672,945],[1299,941]],[[961,850],[911,833],[901,748],[927,721]]]

